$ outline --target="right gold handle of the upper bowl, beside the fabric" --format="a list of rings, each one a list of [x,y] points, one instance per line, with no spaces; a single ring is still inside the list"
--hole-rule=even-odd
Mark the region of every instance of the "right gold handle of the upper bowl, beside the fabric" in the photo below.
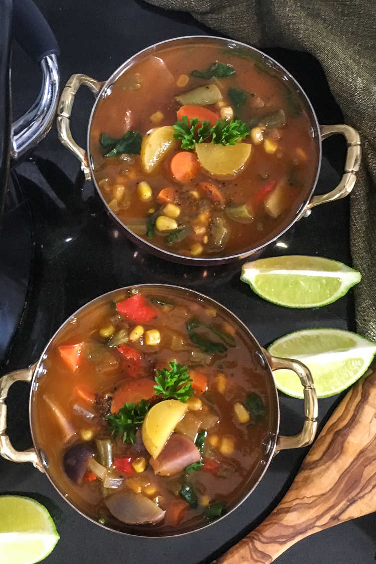
[[[350,127],[350,125],[320,125],[320,131],[322,140],[330,137],[330,135],[340,134],[344,136],[347,144],[346,163],[338,186],[326,194],[313,196],[304,209],[305,212],[315,206],[339,200],[350,194],[356,181],[356,173],[360,168],[360,136],[356,129]]]

